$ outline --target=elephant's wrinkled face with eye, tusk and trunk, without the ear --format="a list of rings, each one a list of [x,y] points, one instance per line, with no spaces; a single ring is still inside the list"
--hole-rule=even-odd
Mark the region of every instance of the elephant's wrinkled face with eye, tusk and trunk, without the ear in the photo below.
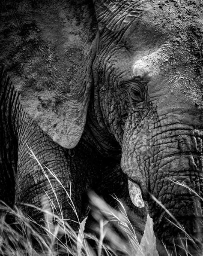
[[[161,240],[173,251],[173,241],[179,244],[185,234],[167,222],[166,211],[148,193],[201,248],[200,200],[174,183],[185,182],[200,195],[200,30],[188,1],[145,2],[98,3],[93,105],[100,109],[100,126],[122,148],[121,168],[134,204],[143,207],[140,189],[148,201],[158,250],[165,255]],[[192,255],[199,255],[197,247],[188,241]]]

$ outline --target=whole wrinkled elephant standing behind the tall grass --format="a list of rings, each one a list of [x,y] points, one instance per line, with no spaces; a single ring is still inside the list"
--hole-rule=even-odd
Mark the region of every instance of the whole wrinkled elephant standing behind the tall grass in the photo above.
[[[0,3],[0,199],[39,207],[71,189],[80,221],[93,189],[147,212],[160,256],[201,255],[202,88],[195,0],[4,0]],[[3,69],[3,66],[5,69]],[[51,178],[64,216],[75,219]],[[30,207],[25,211],[39,219]],[[135,219],[136,219],[135,218]],[[73,224],[74,226],[74,224]],[[77,226],[74,226],[77,229]],[[165,244],[165,247],[162,243]]]

